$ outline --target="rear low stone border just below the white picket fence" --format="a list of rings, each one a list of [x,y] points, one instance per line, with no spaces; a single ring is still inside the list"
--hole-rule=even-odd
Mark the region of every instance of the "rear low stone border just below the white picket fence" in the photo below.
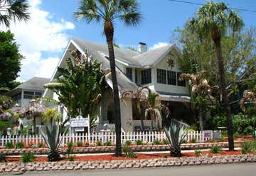
[[[228,143],[187,143],[182,144],[182,150],[193,150],[201,148],[211,148],[213,146],[228,147]],[[131,145],[133,151],[164,151],[169,150],[169,145]],[[59,152],[66,153],[67,148],[59,148]],[[112,153],[114,146],[97,146],[97,147],[75,147],[74,153]],[[5,155],[22,155],[23,153],[33,153],[43,155],[48,152],[48,148],[21,148],[21,149],[0,149],[0,153]]]

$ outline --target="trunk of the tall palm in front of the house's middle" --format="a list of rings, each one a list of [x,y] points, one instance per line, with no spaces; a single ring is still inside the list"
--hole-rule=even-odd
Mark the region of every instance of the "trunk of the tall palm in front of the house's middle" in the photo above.
[[[106,21],[104,24],[104,32],[107,39],[107,47],[110,57],[110,70],[113,84],[113,94],[114,94],[114,121],[115,121],[115,132],[116,132],[116,150],[115,154],[117,157],[122,156],[122,144],[121,144],[121,114],[120,114],[120,101],[119,101],[119,91],[117,86],[117,75],[115,70],[114,61],[114,47],[113,47],[113,36],[114,27],[111,21]]]

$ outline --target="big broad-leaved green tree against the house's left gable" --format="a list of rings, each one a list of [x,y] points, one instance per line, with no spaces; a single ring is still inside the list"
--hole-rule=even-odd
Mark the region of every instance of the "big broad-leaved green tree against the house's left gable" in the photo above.
[[[72,51],[72,57],[68,58],[67,68],[58,67],[58,82],[45,85],[58,94],[58,104],[68,109],[69,118],[62,126],[78,115],[86,117],[90,115],[90,125],[95,125],[95,111],[99,104],[101,94],[105,90],[104,74],[101,64],[97,60],[89,60],[80,52]],[[46,99],[47,101],[47,99]]]

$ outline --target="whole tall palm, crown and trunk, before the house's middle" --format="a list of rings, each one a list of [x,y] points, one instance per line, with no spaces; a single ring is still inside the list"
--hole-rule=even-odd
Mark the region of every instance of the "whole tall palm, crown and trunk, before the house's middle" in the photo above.
[[[80,0],[78,11],[75,12],[76,18],[82,18],[90,23],[102,22],[104,33],[107,39],[107,46],[110,58],[110,70],[114,91],[114,118],[116,126],[116,155],[121,156],[121,116],[119,92],[117,87],[117,75],[114,62],[114,21],[120,20],[127,26],[138,26],[142,14],[139,13],[137,0]]]

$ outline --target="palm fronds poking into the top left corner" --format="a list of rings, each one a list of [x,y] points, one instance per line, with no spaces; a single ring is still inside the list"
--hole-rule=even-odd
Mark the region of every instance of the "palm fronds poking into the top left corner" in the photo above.
[[[0,24],[9,27],[11,21],[27,21],[29,18],[26,0],[0,0]]]

